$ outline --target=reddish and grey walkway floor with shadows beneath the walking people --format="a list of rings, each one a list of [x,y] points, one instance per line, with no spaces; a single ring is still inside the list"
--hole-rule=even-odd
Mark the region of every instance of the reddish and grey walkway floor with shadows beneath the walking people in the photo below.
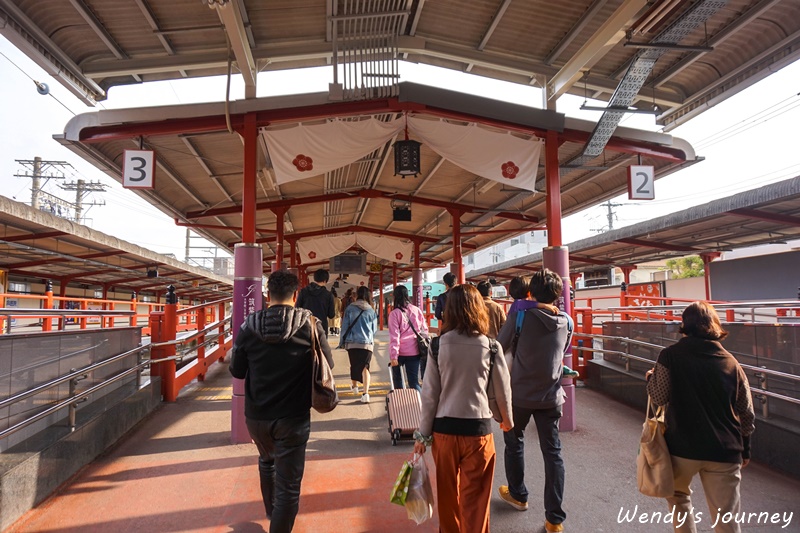
[[[385,394],[388,372],[386,335],[379,336],[373,361],[370,404],[349,393],[347,354],[335,352],[334,373],[342,403],[326,415],[312,415],[300,513],[295,531],[437,531],[434,519],[416,526],[405,509],[389,503],[389,493],[410,442],[391,445]],[[332,343],[337,341],[331,339]],[[9,533],[68,532],[260,532],[269,530],[258,488],[257,453],[252,444],[231,445],[230,377],[227,365],[212,367],[207,380],[184,390],[178,402],[165,404],[123,441],[82,470],[58,494],[26,514]],[[586,388],[577,391],[578,429],[563,433],[567,466],[564,507],[570,532],[668,532],[652,520],[665,512],[663,500],[636,490],[635,457],[643,414]],[[531,491],[527,512],[497,496],[505,483],[502,434],[492,500],[494,532],[543,531],[542,461],[535,431],[526,434],[526,479]],[[433,467],[430,454],[428,464]],[[696,505],[703,513],[699,531],[711,521],[699,483]],[[749,516],[744,531],[800,532],[800,480],[752,464],[744,470],[743,510],[775,513]],[[627,514],[636,521],[622,521]],[[787,524],[789,513],[791,520]]]

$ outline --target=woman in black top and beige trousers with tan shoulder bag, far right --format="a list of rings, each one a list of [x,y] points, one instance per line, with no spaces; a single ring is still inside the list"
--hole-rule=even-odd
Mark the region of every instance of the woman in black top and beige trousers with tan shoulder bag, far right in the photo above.
[[[683,338],[664,348],[647,372],[647,394],[656,405],[667,405],[664,439],[675,478],[667,504],[676,517],[686,517],[675,520],[673,528],[697,531],[689,485],[700,474],[714,531],[739,533],[740,524],[721,517],[740,512],[741,469],[750,462],[755,430],[750,384],[720,344],[728,332],[710,304],[694,302],[684,309],[680,332]]]

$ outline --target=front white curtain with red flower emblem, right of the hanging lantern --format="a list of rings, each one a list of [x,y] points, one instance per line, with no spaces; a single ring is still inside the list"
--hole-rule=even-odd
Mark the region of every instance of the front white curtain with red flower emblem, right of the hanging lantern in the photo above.
[[[483,178],[534,190],[542,142],[489,131],[476,124],[409,117],[414,137],[445,159]]]

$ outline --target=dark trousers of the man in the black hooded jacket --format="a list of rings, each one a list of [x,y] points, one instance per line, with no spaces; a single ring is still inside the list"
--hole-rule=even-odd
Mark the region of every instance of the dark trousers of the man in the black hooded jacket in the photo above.
[[[275,420],[248,418],[246,422],[247,430],[258,448],[262,497],[268,515],[269,509],[272,509],[269,532],[289,533],[300,507],[300,483],[306,465],[311,413]],[[273,483],[263,479],[265,476],[271,476]],[[265,492],[265,485],[274,485],[274,492]],[[272,502],[266,501],[269,498]]]

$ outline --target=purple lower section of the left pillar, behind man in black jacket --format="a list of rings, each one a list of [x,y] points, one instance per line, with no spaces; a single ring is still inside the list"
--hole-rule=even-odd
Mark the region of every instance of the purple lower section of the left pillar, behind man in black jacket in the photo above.
[[[262,293],[261,245],[239,243],[233,248],[233,309],[231,330],[233,342],[247,315],[261,309]],[[231,442],[250,442],[250,433],[244,421],[244,380],[233,378],[231,399]]]

